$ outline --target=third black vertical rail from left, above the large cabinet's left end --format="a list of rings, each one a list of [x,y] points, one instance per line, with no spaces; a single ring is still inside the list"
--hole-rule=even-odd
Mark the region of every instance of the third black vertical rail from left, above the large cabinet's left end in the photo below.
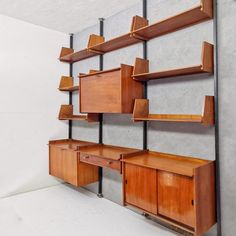
[[[147,0],[143,0],[143,18],[147,18]],[[143,59],[147,59],[147,41],[143,42]],[[144,98],[147,99],[147,82],[144,82]],[[143,150],[148,148],[147,145],[147,121],[143,122]]]

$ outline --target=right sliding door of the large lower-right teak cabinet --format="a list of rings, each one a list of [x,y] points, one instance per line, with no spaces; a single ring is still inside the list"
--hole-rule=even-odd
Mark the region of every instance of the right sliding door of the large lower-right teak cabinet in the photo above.
[[[193,179],[158,171],[158,213],[194,227]]]

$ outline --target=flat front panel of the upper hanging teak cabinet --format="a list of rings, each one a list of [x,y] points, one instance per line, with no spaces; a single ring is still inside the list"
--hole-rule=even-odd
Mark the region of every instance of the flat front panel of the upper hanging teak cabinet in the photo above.
[[[121,113],[120,70],[80,77],[80,112]]]

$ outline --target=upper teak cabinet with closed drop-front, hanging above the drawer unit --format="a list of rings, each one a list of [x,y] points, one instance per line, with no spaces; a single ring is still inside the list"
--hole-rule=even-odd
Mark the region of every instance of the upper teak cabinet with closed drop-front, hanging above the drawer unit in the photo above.
[[[143,98],[143,84],[132,79],[133,66],[80,75],[81,113],[132,113]]]

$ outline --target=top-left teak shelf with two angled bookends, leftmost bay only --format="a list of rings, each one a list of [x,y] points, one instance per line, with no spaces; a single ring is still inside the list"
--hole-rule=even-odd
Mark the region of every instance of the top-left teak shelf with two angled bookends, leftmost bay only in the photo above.
[[[104,37],[92,34],[89,36],[88,47],[86,49],[83,49],[78,52],[74,52],[74,50],[71,48],[63,47],[61,49],[59,60],[62,62],[73,63],[73,62],[84,60],[86,58],[101,55],[103,53],[89,50],[90,47],[97,45],[101,42],[104,42]]]

